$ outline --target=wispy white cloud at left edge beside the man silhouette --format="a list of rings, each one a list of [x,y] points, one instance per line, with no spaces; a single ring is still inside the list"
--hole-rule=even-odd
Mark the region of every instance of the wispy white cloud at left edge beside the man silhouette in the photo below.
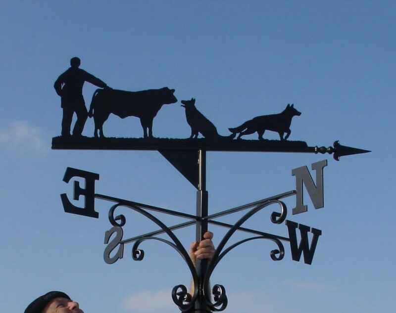
[[[34,150],[44,153],[49,149],[41,129],[22,121],[0,128],[0,144],[20,151]]]

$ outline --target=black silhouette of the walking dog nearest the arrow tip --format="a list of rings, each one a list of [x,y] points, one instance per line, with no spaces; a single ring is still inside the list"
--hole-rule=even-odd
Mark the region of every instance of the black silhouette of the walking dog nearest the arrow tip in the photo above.
[[[235,137],[238,133],[238,138],[243,135],[253,134],[257,132],[258,139],[263,140],[263,134],[266,130],[277,132],[281,140],[287,140],[291,134],[290,124],[292,124],[293,116],[300,116],[301,113],[294,108],[294,104],[288,104],[286,109],[279,114],[262,115],[253,118],[236,128],[229,128],[230,132]],[[283,135],[286,133],[286,136]]]

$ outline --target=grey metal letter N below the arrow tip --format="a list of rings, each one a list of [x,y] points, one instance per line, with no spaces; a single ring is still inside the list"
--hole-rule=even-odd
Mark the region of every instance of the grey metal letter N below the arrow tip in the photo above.
[[[293,215],[308,211],[307,206],[303,204],[302,184],[305,185],[315,209],[323,208],[323,168],[325,166],[327,166],[327,160],[312,164],[312,170],[316,171],[316,185],[306,166],[292,170],[292,175],[296,176],[297,190],[296,207],[292,211]]]

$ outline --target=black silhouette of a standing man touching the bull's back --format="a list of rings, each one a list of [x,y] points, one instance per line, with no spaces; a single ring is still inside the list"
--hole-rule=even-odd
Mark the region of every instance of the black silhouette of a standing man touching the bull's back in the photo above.
[[[79,68],[80,59],[73,57],[70,60],[70,68],[61,74],[53,84],[56,93],[61,97],[61,108],[63,109],[62,136],[70,136],[70,127],[73,114],[77,114],[77,121],[73,128],[74,136],[81,136],[85,122],[88,118],[87,108],[83,97],[84,82],[89,82],[100,88],[107,85],[99,78]]]

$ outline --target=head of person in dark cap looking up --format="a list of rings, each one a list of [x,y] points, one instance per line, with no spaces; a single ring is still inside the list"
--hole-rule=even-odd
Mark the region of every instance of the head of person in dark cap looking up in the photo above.
[[[83,313],[77,302],[60,291],[50,291],[34,300],[25,313]]]

